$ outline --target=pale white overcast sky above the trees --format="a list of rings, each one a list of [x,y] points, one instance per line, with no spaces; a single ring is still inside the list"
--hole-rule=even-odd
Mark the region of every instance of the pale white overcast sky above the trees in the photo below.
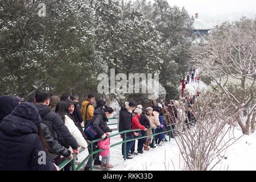
[[[153,2],[154,0],[148,0]],[[256,17],[256,0],[167,0],[171,6],[184,6],[189,15],[199,13],[206,23],[237,20],[242,15]]]

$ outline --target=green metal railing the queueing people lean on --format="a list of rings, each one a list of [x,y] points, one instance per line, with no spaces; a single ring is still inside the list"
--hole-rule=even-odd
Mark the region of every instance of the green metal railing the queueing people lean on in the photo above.
[[[142,139],[142,138],[148,138],[148,137],[153,137],[153,140],[152,140],[152,144],[153,144],[153,147],[155,147],[155,135],[159,135],[159,134],[163,134],[163,133],[169,133],[169,142],[171,140],[171,134],[173,133],[174,129],[171,129],[170,127],[170,130],[167,130],[167,131],[163,131],[163,132],[160,132],[160,133],[157,133],[155,134],[155,129],[153,128],[150,128],[152,129],[152,134],[151,135],[146,135],[146,136],[143,136],[143,137],[136,137],[136,138],[132,138],[132,139],[126,139],[127,138],[127,133],[129,132],[134,132],[134,131],[142,131],[141,129],[137,129],[137,130],[125,130],[125,131],[122,131],[122,132],[118,132],[116,134],[113,134],[113,135],[109,135],[108,138],[112,138],[112,137],[115,137],[117,135],[121,135],[123,134],[123,141],[121,142],[117,142],[117,143],[114,143],[114,144],[111,144],[110,145],[110,148],[111,147],[114,147],[114,146],[117,146],[119,144],[122,144],[124,143],[125,146],[124,146],[124,155],[123,156],[126,156],[126,143],[127,142],[131,142],[133,140],[138,140],[138,139]],[[75,167],[75,162],[76,162],[76,158],[77,158],[77,155],[76,154],[73,154],[73,159],[71,159],[71,157],[67,158],[64,160],[64,162],[62,162],[60,165],[59,165],[59,168],[62,169],[64,166],[66,166],[68,163],[72,162],[72,171],[79,171],[82,166],[85,165],[85,162],[90,158],[90,170],[92,171],[93,170],[93,155],[94,154],[97,154],[101,151],[103,151],[104,149],[99,149],[99,150],[96,150],[96,151],[93,151],[93,143],[96,143],[96,142],[99,142],[103,139],[96,139],[96,140],[93,140],[90,142],[90,154],[88,156],[86,156],[86,158],[84,160],[82,160],[82,162],[79,164],[79,166]],[[84,151],[84,148],[81,148],[80,149],[80,152]],[[124,160],[126,160],[126,157],[124,157]]]

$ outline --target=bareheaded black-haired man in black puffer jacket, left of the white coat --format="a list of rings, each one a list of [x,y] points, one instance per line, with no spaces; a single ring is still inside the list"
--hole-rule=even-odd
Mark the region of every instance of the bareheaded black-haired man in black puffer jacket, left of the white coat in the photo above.
[[[42,123],[49,127],[51,136],[58,140],[58,142],[69,148],[73,148],[73,152],[76,154],[79,153],[79,144],[76,142],[76,139],[72,137],[69,133],[68,128],[64,125],[64,122],[60,118],[59,114],[53,113],[49,105],[49,94],[46,92],[36,92],[35,101],[36,107],[39,110],[40,116],[42,118]]]

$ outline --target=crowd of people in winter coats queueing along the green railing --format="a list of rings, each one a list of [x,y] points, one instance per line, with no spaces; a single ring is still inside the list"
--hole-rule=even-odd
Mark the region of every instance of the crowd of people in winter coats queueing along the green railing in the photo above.
[[[88,148],[90,153],[90,142],[99,138],[102,140],[93,143],[92,149],[102,151],[93,155],[93,165],[113,168],[108,137],[112,130],[107,125],[113,109],[106,106],[104,100],[94,102],[92,94],[82,101],[81,107],[79,97],[65,93],[59,97],[38,91],[26,102],[18,96],[0,96],[0,170],[59,170],[59,164],[68,157],[73,159],[80,147]],[[194,119],[189,109],[184,114],[187,123]],[[177,101],[158,105],[152,100],[152,106],[146,108],[135,101],[122,104],[118,116],[119,132],[140,129],[126,133],[126,139],[144,137],[138,139],[137,146],[135,140],[127,142],[126,151],[123,143],[123,158],[133,159],[133,155],[161,146],[169,135],[164,131],[173,129],[169,137],[174,138],[176,122],[181,115]],[[92,126],[96,137],[86,133],[82,125],[85,129]],[[155,143],[152,131],[160,133],[155,135]],[[121,138],[125,140],[125,135]],[[91,164],[89,158],[84,170],[89,171]],[[71,170],[71,163],[63,169]]]

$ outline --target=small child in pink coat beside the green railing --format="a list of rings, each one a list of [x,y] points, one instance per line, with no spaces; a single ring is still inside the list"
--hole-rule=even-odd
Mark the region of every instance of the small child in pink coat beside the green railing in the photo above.
[[[104,133],[109,136],[109,132],[112,132],[111,129],[109,129],[108,126],[103,126],[101,129],[104,131]],[[98,142],[98,149],[104,149],[100,152],[100,155],[102,156],[101,159],[101,167],[106,168],[113,168],[114,166],[110,164],[110,138],[107,138],[105,140],[101,140]]]

